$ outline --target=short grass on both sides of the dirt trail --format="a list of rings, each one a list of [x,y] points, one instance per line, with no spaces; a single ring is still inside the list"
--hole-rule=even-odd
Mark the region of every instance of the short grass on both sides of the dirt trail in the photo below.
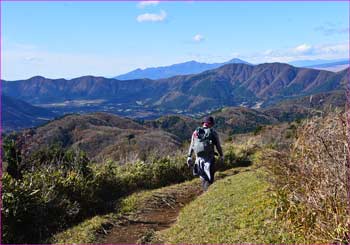
[[[232,175],[234,172],[239,174]],[[157,232],[152,243],[292,243],[281,233],[273,215],[268,184],[254,167],[218,173],[209,191],[185,206],[178,222]],[[132,215],[154,199],[156,193],[183,190],[199,185],[199,179],[153,191],[143,191],[123,199],[119,211],[96,216],[57,234],[54,243],[98,243],[99,238],[119,217]],[[103,237],[103,236],[102,236]]]

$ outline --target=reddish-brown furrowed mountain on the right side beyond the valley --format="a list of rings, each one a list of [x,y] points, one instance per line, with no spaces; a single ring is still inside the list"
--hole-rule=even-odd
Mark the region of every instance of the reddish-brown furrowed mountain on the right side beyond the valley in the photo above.
[[[172,88],[154,105],[189,111],[237,105],[268,106],[293,97],[344,89],[346,79],[347,70],[333,73],[282,63],[229,64],[197,75],[158,80],[171,84]]]

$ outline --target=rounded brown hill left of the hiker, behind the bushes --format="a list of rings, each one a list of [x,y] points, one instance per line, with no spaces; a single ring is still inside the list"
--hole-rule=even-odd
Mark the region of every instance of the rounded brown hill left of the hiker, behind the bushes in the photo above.
[[[59,144],[83,150],[96,161],[110,158],[121,163],[168,154],[181,145],[175,135],[107,113],[68,115],[29,135],[26,148],[30,152]]]

